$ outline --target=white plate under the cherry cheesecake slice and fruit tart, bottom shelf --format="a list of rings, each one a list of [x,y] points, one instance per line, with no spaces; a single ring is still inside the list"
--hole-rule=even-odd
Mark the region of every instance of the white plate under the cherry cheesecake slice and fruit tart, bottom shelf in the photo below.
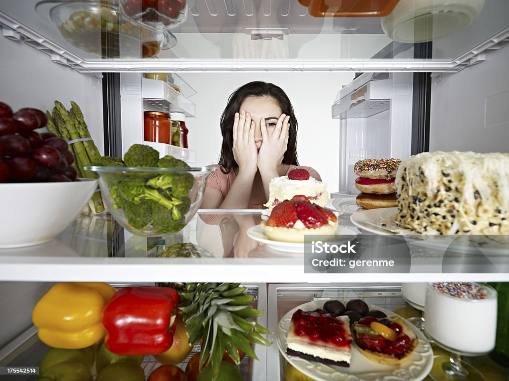
[[[286,313],[277,325],[277,346],[279,352],[287,361],[300,372],[313,377],[317,381],[419,381],[424,379],[433,366],[433,351],[426,337],[412,324],[402,318],[410,327],[419,342],[410,359],[400,365],[382,365],[366,359],[352,343],[352,359],[349,368],[335,365],[325,365],[316,361],[309,361],[286,353],[287,334],[290,328],[292,315],[299,308],[304,311],[312,311],[322,308],[326,300],[314,301],[301,304]],[[370,305],[370,309],[378,309],[389,316],[397,316],[392,311]],[[400,316],[401,317],[401,316]]]

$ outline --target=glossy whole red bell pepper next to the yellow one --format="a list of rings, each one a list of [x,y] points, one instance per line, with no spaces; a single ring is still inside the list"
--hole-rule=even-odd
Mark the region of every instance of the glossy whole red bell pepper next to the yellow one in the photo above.
[[[165,287],[126,287],[102,312],[108,351],[124,356],[155,355],[173,344],[180,298]]]

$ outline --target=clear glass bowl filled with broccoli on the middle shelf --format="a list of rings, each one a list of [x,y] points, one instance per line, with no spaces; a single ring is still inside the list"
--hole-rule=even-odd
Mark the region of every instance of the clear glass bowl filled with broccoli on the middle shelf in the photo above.
[[[95,172],[109,212],[137,236],[177,233],[203,201],[215,168],[84,167]]]

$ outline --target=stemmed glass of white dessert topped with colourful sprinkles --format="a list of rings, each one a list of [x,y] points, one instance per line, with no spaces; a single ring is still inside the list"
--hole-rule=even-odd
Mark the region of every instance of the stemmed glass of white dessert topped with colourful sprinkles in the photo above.
[[[435,344],[451,353],[434,358],[441,366],[433,367],[430,377],[436,381],[485,380],[461,357],[491,352],[495,347],[496,325],[497,292],[490,286],[428,283],[425,330]]]

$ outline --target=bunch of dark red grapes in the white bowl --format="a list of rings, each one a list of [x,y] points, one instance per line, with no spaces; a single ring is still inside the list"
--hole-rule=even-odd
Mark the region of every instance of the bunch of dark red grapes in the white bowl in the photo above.
[[[25,107],[13,113],[0,102],[0,183],[78,181],[67,142],[34,131],[47,122],[41,110]]]

